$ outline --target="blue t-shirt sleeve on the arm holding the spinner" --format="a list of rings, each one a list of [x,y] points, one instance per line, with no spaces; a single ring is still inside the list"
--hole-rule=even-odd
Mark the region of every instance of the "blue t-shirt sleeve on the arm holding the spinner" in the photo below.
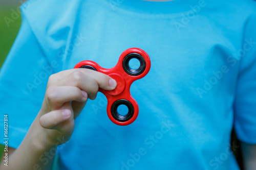
[[[8,115],[8,146],[17,148],[40,110],[52,65],[23,16],[22,26],[0,70],[0,125]],[[2,138],[3,139],[3,138]],[[1,140],[3,144],[4,140]]]

